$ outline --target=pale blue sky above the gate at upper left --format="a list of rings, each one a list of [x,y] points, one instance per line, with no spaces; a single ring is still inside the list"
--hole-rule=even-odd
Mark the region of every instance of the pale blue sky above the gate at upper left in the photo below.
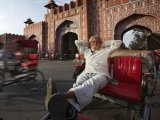
[[[55,0],[58,5],[71,0]],[[23,35],[25,21],[31,18],[33,22],[44,20],[48,0],[0,0],[0,35],[12,33]]]

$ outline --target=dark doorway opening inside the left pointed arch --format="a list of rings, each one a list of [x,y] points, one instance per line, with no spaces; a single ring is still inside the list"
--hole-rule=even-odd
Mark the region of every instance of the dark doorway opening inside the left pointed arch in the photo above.
[[[75,40],[78,39],[76,33],[68,32],[62,36],[62,53],[67,55],[67,58],[73,59],[75,54],[78,53],[77,47],[75,45]]]

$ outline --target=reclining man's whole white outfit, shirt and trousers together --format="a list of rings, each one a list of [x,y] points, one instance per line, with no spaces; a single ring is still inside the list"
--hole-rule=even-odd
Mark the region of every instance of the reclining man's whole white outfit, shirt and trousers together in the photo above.
[[[77,100],[68,100],[78,111],[88,105],[93,95],[111,80],[107,60],[111,53],[120,48],[121,43],[121,40],[106,41],[104,42],[105,48],[92,53],[83,40],[75,41],[78,50],[84,53],[86,61],[84,71],[77,77],[76,83],[70,89],[74,91]]]

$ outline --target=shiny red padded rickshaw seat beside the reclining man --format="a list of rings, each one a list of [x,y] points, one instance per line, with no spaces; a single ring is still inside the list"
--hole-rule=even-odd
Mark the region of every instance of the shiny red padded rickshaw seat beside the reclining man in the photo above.
[[[118,81],[118,85],[113,85],[110,83],[99,92],[121,98],[123,100],[140,103],[142,98],[141,58],[133,56],[121,56],[114,58],[113,63],[113,78]],[[109,68],[112,69],[111,67]]]

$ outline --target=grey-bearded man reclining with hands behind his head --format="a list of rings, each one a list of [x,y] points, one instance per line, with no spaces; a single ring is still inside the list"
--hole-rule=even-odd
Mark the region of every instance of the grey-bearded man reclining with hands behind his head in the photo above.
[[[102,42],[97,35],[89,39],[90,48],[83,40],[76,40],[75,44],[79,51],[84,53],[86,66],[84,71],[77,77],[76,83],[65,93],[54,93],[52,80],[48,81],[47,95],[45,99],[46,109],[54,120],[76,119],[77,111],[81,111],[89,103],[98,90],[109,82],[117,84],[108,70],[108,57],[120,48],[121,40]],[[102,48],[102,44],[105,48]],[[113,82],[112,82],[113,81]],[[72,110],[75,114],[70,114]]]

